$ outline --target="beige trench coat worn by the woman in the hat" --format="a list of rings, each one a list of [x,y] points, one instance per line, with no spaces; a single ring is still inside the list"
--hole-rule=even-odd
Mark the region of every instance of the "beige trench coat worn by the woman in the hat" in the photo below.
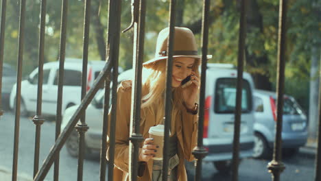
[[[130,136],[130,104],[131,104],[131,92],[132,82],[130,80],[121,82],[117,90],[117,121],[116,121],[116,140],[115,140],[115,168],[114,168],[114,180],[128,180],[128,163],[129,163],[129,141]],[[148,138],[148,130],[155,124],[155,116],[148,112],[141,117],[145,117],[145,123],[141,124],[140,132],[143,138]],[[110,114],[109,114],[110,117]],[[110,119],[109,119],[110,120]],[[185,106],[180,106],[180,113],[176,118],[176,135],[178,137],[178,157],[180,163],[178,165],[178,180],[187,180],[187,173],[185,170],[185,159],[191,161],[194,159],[192,155],[193,148],[196,145],[197,137],[197,115],[187,112]],[[110,126],[108,126],[110,128]],[[109,152],[109,131],[107,138],[107,159]],[[142,143],[140,147],[142,147]],[[141,149],[139,149],[141,152]],[[143,171],[143,176],[138,180],[152,180],[152,165],[153,160],[147,162],[147,168]]]

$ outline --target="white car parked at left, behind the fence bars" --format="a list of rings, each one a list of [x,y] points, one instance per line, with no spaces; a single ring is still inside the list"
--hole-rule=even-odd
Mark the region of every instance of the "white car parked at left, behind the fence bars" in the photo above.
[[[106,62],[88,61],[87,84],[89,90],[94,80],[104,68]],[[120,70],[121,71],[121,70]],[[43,114],[56,115],[58,97],[59,62],[48,62],[43,65]],[[64,62],[64,83],[62,95],[62,113],[66,108],[80,104],[82,82],[82,60],[66,58]],[[38,87],[38,68],[29,74],[27,80],[21,82],[21,115],[36,112]],[[10,95],[10,108],[14,109],[16,85]]]

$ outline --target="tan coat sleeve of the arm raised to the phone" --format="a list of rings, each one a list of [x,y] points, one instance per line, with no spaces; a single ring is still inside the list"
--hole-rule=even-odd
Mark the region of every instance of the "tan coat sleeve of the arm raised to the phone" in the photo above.
[[[188,161],[192,161],[194,160],[192,152],[196,146],[198,136],[198,114],[191,114],[190,112],[187,112],[187,108],[185,108],[185,106],[182,106],[181,111],[184,158]]]

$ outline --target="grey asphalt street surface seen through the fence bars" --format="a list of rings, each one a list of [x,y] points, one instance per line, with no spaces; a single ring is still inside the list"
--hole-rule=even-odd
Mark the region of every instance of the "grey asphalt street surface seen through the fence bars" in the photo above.
[[[14,114],[7,111],[0,119],[0,171],[12,171],[14,145]],[[35,125],[30,118],[21,117],[19,136],[18,173],[32,178],[34,165]],[[54,143],[55,122],[45,121],[41,126],[40,166]],[[270,160],[248,158],[239,165],[239,180],[272,180],[266,169]],[[311,155],[298,153],[291,158],[284,158],[285,171],[281,180],[313,180],[314,158]],[[65,147],[60,152],[60,180],[77,180],[78,160],[69,156]],[[189,167],[190,168],[190,167]],[[189,169],[189,180],[193,180],[193,169]],[[217,173],[211,162],[203,163],[202,180],[230,180],[230,176]],[[0,177],[1,178],[1,177]],[[84,180],[99,180],[99,156],[84,160]],[[53,180],[53,167],[46,180]]]

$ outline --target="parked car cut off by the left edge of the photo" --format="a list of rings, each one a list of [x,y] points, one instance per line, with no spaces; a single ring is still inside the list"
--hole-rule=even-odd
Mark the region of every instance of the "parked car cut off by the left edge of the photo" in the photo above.
[[[1,84],[1,106],[3,108],[9,108],[9,97],[14,84],[16,84],[16,70],[10,64],[3,63]]]

